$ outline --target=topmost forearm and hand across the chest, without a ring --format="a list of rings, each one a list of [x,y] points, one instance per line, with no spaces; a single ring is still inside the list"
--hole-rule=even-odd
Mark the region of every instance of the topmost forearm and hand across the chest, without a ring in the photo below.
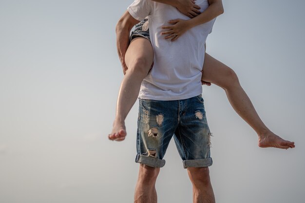
[[[195,0],[152,0],[176,7],[184,15],[194,18],[200,14],[200,6],[195,4]]]

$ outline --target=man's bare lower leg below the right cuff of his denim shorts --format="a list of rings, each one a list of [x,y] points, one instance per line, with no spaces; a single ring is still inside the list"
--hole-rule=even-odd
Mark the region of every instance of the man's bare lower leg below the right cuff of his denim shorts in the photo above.
[[[215,203],[209,168],[189,167],[188,174],[193,184],[193,203]]]

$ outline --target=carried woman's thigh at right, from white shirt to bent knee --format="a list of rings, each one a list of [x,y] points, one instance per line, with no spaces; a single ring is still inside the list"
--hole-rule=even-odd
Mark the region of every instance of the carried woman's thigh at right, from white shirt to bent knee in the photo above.
[[[231,68],[205,53],[201,80],[225,88],[232,82],[238,81],[238,78]]]

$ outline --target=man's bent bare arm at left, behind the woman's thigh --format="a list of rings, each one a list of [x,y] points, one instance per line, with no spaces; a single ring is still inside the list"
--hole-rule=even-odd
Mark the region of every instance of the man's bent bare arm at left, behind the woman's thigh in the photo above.
[[[127,70],[127,66],[125,64],[125,54],[127,51],[127,48],[129,46],[129,35],[130,31],[133,28],[135,24],[140,22],[139,20],[136,20],[130,15],[128,11],[126,11],[123,16],[118,20],[115,27],[115,33],[116,33],[116,48],[117,48],[117,54],[121,61],[124,75]]]

